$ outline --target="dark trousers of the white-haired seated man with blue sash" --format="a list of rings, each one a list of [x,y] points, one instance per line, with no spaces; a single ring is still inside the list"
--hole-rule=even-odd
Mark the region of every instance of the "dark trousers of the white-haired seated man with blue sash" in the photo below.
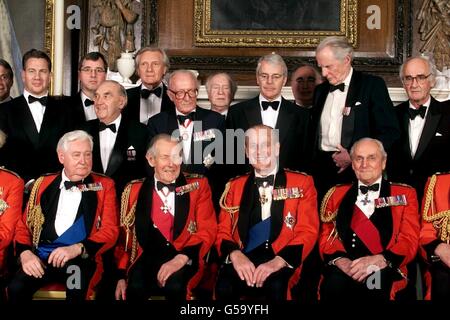
[[[63,268],[46,265],[42,278],[28,276],[20,269],[8,285],[8,299],[13,303],[30,301],[39,288],[57,282],[65,285],[67,300],[83,301],[86,299],[89,282],[95,273],[95,269],[96,263],[94,260],[81,259],[80,257],[70,260]],[[80,272],[77,272],[78,270]]]

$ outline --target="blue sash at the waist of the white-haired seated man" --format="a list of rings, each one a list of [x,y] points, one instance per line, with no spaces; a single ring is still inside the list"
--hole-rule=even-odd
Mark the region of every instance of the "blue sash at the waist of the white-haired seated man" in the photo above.
[[[37,247],[37,255],[41,260],[47,260],[50,253],[59,247],[65,247],[86,239],[84,218],[81,216],[74,224],[52,243],[42,243]]]

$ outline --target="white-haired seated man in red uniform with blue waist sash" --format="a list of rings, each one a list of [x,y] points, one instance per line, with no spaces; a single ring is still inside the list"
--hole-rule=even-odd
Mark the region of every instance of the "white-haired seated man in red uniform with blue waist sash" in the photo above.
[[[16,228],[22,269],[8,286],[12,302],[31,300],[50,282],[63,283],[68,300],[92,298],[100,255],[119,231],[114,182],[91,172],[92,145],[84,131],[66,133],[57,145],[64,169],[36,180]]]

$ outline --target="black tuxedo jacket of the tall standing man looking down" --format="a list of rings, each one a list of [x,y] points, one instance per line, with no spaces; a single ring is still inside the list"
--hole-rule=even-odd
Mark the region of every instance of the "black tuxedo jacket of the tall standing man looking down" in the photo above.
[[[316,87],[312,112],[312,134],[315,151],[320,148],[320,117],[330,89],[324,82]],[[342,120],[341,145],[350,151],[353,143],[364,137],[380,140],[386,151],[400,136],[394,106],[386,84],[377,76],[353,71],[347,93],[348,116]]]

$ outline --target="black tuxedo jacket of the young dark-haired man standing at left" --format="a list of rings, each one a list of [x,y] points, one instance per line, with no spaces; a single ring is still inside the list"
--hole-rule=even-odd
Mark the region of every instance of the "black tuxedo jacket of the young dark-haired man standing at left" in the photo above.
[[[59,138],[75,128],[67,97],[48,97],[41,130],[37,131],[23,95],[2,104],[0,129],[8,138],[2,148],[2,162],[25,181],[62,168],[56,145]]]

